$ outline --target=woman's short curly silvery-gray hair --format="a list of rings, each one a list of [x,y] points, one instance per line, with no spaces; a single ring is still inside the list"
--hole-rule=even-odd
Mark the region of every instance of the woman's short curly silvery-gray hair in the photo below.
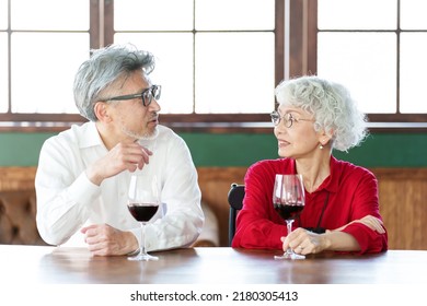
[[[349,91],[319,76],[285,80],[275,90],[280,105],[291,105],[314,116],[314,130],[332,138],[332,148],[347,152],[367,137],[367,117],[359,111]]]

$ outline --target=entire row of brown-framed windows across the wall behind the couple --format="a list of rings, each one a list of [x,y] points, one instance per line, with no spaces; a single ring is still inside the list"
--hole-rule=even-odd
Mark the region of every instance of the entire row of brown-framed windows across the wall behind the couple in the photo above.
[[[83,121],[76,70],[91,48],[127,42],[158,57],[152,78],[173,128],[270,132],[275,85],[307,73],[348,86],[373,128],[427,128],[426,3],[0,0],[0,128]]]

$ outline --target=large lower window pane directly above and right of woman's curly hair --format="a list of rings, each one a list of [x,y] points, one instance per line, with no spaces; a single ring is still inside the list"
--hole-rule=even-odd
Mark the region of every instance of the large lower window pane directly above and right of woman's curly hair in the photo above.
[[[396,36],[320,33],[318,74],[347,86],[365,113],[396,111]]]

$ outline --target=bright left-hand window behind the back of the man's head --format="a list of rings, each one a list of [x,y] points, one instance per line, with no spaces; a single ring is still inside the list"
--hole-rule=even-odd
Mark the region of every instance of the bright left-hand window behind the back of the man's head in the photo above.
[[[0,8],[2,126],[81,120],[72,82],[89,56],[88,0],[0,0]]]

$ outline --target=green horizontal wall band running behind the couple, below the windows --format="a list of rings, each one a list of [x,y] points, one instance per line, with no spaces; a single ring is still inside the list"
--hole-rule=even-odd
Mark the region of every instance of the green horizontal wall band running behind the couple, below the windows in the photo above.
[[[196,166],[249,166],[276,158],[272,134],[180,133],[187,142]],[[53,133],[0,133],[0,166],[34,166],[43,142]],[[426,167],[426,133],[377,133],[338,158],[366,167]]]

